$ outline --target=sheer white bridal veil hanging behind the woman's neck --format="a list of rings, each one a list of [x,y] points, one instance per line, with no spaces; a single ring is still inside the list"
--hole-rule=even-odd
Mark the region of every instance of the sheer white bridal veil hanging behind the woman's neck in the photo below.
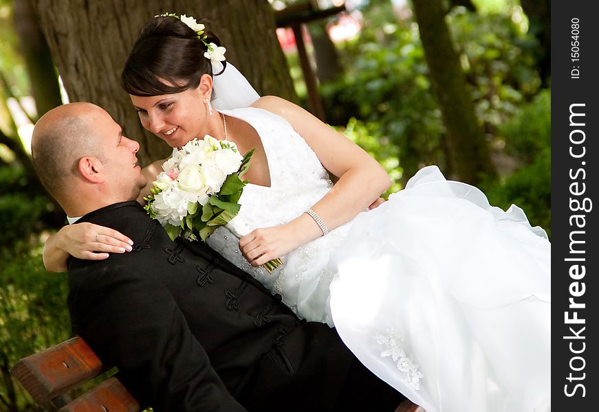
[[[213,73],[222,69],[221,62],[213,62]],[[230,62],[227,62],[223,73],[213,76],[213,84],[215,98],[212,104],[217,110],[248,107],[260,98],[250,82]]]

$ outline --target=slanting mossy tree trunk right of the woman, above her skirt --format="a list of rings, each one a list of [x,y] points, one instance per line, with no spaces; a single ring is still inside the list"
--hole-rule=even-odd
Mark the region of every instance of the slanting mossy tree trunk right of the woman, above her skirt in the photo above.
[[[413,0],[412,3],[446,127],[450,168],[462,181],[478,183],[481,174],[494,175],[495,172],[445,21],[446,10],[442,0]]]

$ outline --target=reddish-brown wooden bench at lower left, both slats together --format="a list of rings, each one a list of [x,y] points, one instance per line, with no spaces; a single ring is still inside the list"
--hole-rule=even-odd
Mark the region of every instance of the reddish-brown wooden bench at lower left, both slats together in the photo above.
[[[140,412],[140,404],[120,383],[118,374],[74,400],[67,394],[105,370],[87,343],[75,337],[21,359],[10,374],[37,403],[53,411]]]

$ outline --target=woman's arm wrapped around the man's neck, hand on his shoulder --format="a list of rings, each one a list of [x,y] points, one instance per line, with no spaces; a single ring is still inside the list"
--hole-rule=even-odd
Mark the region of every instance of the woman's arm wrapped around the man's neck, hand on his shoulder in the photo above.
[[[160,172],[163,160],[155,161],[142,169],[148,183],[136,199],[144,203],[144,197],[149,196],[152,182]],[[119,231],[92,223],[76,223],[63,227],[51,235],[44,243],[43,262],[48,271],[67,271],[69,256],[85,260],[102,260],[109,253],[124,253],[131,251],[133,241]],[[100,253],[98,253],[100,252]]]

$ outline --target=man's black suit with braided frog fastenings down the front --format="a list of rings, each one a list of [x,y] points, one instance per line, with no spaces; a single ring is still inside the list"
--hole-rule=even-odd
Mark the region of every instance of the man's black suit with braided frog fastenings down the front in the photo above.
[[[353,355],[336,331],[299,321],[203,242],[172,242],[136,202],[80,221],[135,242],[107,260],[69,262],[73,330],[155,411],[331,407]]]

